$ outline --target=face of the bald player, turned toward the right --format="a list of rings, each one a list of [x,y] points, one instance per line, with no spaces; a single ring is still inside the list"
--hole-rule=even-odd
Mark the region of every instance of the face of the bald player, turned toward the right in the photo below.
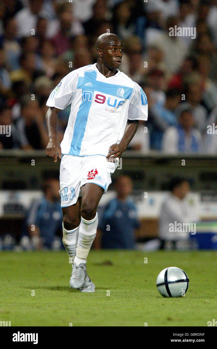
[[[110,41],[103,49],[102,59],[104,64],[110,69],[117,69],[121,65],[123,45],[118,39]]]

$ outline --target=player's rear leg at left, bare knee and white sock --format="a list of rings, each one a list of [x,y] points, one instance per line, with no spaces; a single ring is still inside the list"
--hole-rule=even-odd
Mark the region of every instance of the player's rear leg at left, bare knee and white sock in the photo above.
[[[80,207],[82,198],[79,197],[74,205],[62,207],[63,212],[63,244],[71,258],[71,263],[76,255],[76,246],[78,241],[78,231],[80,224]]]

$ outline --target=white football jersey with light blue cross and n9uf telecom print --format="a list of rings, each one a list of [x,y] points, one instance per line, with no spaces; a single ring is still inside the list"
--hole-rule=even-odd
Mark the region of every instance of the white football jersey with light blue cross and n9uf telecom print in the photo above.
[[[141,87],[124,73],[105,77],[88,65],[66,75],[48,98],[47,106],[64,109],[71,103],[62,154],[108,154],[124,135],[127,119],[147,120],[147,98]]]

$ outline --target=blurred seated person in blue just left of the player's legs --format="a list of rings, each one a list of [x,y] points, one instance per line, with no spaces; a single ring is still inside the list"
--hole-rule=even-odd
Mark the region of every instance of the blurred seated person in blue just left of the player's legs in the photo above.
[[[33,249],[53,248],[56,234],[62,231],[63,218],[59,190],[58,179],[46,179],[43,187],[44,196],[34,201],[28,211],[23,238],[26,239],[26,235],[30,237]]]

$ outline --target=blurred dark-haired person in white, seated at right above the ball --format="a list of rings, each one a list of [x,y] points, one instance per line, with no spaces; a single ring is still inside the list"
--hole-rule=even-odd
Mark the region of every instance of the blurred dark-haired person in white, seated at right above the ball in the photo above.
[[[185,178],[174,178],[171,180],[170,190],[171,193],[163,201],[159,215],[158,237],[161,240],[160,249],[165,248],[168,242],[172,243],[173,248],[177,247],[177,242],[187,243],[191,232],[189,232],[189,229],[184,229],[185,231],[183,231],[183,228],[179,229],[178,223],[181,223],[183,227],[183,223],[194,223],[199,220],[197,214],[193,212],[191,206],[185,200],[190,191],[188,181]],[[193,227],[195,227],[194,224]]]

